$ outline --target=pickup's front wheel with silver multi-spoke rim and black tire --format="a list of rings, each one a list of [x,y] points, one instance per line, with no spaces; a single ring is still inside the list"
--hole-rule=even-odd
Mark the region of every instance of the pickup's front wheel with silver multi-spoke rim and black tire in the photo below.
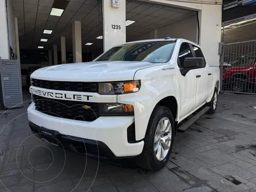
[[[174,137],[174,120],[171,111],[156,106],[149,119],[144,148],[138,165],[150,171],[161,170],[169,161]]]

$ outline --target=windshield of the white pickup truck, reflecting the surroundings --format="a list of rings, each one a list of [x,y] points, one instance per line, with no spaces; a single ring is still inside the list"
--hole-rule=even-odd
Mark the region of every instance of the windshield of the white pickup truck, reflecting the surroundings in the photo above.
[[[95,61],[147,61],[164,63],[171,59],[175,43],[175,41],[155,41],[115,46]]]

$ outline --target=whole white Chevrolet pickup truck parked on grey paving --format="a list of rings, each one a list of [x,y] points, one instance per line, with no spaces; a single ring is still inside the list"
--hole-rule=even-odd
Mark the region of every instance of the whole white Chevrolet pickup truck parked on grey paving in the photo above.
[[[29,125],[52,145],[100,158],[136,156],[156,171],[182,120],[215,112],[219,78],[219,67],[185,39],[125,43],[93,62],[34,71]]]

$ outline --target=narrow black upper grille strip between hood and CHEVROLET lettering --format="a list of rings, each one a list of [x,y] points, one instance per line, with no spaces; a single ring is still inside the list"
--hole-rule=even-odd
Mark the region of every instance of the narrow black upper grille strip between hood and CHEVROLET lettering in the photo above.
[[[65,82],[65,81],[46,81],[41,79],[32,79],[33,86],[45,89],[63,90],[63,91],[83,91],[98,92],[97,82]]]

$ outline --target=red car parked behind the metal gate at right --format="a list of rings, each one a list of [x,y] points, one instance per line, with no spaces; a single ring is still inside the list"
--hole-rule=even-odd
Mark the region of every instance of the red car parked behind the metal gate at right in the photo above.
[[[256,93],[256,59],[249,67],[230,67],[223,70],[223,90]]]

